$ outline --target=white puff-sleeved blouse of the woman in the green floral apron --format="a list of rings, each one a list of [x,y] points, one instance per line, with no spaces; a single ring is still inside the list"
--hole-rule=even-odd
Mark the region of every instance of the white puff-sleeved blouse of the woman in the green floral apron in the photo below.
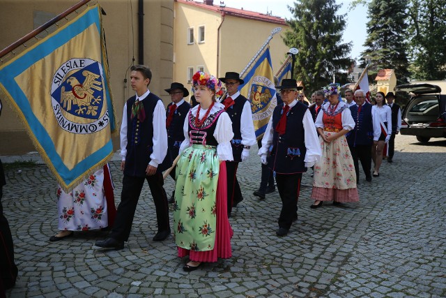
[[[183,132],[185,140],[180,145],[180,153],[183,152],[184,149],[187,147],[190,147],[190,137],[189,137],[189,117],[190,113],[193,115],[197,114],[198,107],[200,105],[196,105],[192,107],[192,110],[189,111],[189,114],[187,114],[187,117],[184,121],[183,125]],[[220,110],[224,109],[224,105],[221,103],[215,103],[212,109],[210,110],[209,114],[214,114],[215,112],[218,112]],[[199,119],[203,119],[204,114],[208,109],[200,109]],[[232,132],[232,121],[231,118],[229,118],[229,114],[226,112],[222,112],[220,116],[217,119],[217,124],[215,126],[214,131],[214,137],[215,140],[217,140],[217,156],[220,161],[233,161],[232,156],[232,146],[231,146],[231,140],[234,137],[234,133]]]

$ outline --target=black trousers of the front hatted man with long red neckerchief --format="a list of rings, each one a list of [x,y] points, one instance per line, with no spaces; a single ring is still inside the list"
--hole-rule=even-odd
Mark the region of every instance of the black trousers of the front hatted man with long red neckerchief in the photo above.
[[[302,173],[276,174],[277,191],[282,199],[282,211],[279,216],[279,228],[289,230],[293,223],[293,217],[298,211],[300,193],[300,181]]]

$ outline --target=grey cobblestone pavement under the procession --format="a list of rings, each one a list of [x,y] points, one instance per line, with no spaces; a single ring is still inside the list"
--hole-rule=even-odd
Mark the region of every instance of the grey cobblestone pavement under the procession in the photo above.
[[[154,205],[144,186],[130,241],[95,251],[107,232],[56,233],[56,182],[44,165],[10,170],[3,207],[19,267],[7,297],[446,297],[446,139],[397,136],[394,163],[360,178],[360,202],[310,209],[302,179],[298,221],[278,238],[277,192],[260,201],[260,162],[239,167],[245,200],[233,210],[233,258],[186,273],[172,237],[153,242]],[[4,158],[2,158],[3,161]],[[118,204],[121,172],[112,162]],[[174,184],[167,179],[170,195]]]

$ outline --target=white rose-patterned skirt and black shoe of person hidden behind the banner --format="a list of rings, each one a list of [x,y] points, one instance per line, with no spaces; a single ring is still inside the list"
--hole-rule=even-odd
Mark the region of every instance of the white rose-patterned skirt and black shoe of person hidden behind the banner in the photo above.
[[[49,238],[59,241],[73,231],[87,231],[112,226],[116,215],[113,182],[109,165],[104,165],[69,193],[57,188],[60,232]]]

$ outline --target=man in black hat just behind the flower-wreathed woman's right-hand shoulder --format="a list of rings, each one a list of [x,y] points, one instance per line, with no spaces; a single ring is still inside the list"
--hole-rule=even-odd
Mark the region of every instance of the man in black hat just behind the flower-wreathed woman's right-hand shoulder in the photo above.
[[[224,77],[219,77],[226,86],[227,96],[223,100],[224,110],[232,121],[234,137],[231,140],[233,161],[226,161],[228,184],[228,217],[231,216],[232,207],[243,200],[240,185],[236,177],[238,163],[245,161],[249,156],[249,149],[256,144],[254,122],[252,121],[251,104],[240,94],[238,87],[244,81],[240,75],[227,72]]]

